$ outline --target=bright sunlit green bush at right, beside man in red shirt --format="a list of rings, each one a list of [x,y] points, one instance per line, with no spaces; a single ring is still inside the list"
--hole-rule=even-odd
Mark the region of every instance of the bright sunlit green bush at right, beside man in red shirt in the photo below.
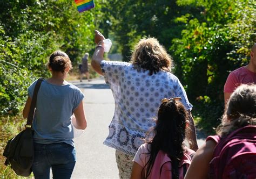
[[[230,71],[244,66],[255,39],[254,5],[250,1],[190,1],[203,6],[200,18],[187,18],[182,38],[171,51],[176,75],[194,104],[193,114],[205,130],[224,112],[224,84]],[[191,5],[191,4],[190,4]],[[180,20],[180,19],[178,19]]]

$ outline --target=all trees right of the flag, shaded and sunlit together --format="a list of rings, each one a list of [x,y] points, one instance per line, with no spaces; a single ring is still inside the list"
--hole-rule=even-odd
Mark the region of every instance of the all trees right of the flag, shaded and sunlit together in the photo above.
[[[249,0],[111,1],[103,11],[109,31],[129,61],[144,35],[156,37],[173,56],[176,74],[199,124],[211,129],[224,110],[228,73],[248,62],[255,42],[255,4]],[[104,9],[105,8],[105,9]]]

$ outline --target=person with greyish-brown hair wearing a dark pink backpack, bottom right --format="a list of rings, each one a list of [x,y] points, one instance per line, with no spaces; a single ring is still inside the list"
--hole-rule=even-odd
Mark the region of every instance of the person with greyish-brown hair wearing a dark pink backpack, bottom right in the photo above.
[[[227,103],[222,123],[217,128],[217,134],[209,136],[206,143],[198,149],[185,179],[256,178],[255,84],[242,84],[235,89]],[[228,138],[233,138],[233,142]],[[251,143],[246,141],[249,138]],[[222,147],[223,144],[227,146]],[[225,148],[225,151],[219,151]],[[246,155],[250,151],[251,155]]]

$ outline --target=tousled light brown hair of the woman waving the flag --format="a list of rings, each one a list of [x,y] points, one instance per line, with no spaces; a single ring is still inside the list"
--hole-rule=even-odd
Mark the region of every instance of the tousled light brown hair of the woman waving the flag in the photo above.
[[[149,75],[156,74],[160,70],[170,72],[172,68],[171,56],[156,38],[141,39],[132,53],[131,63],[138,71],[149,70]]]

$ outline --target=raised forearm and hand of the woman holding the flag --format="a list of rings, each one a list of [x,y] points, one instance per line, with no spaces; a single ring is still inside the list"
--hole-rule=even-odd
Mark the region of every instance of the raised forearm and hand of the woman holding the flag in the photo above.
[[[92,55],[91,66],[100,75],[103,75],[102,68],[100,67],[100,62],[104,60],[104,39],[105,37],[102,33],[100,33],[99,31],[95,31],[95,43],[97,44],[97,46],[95,48],[95,52]]]

